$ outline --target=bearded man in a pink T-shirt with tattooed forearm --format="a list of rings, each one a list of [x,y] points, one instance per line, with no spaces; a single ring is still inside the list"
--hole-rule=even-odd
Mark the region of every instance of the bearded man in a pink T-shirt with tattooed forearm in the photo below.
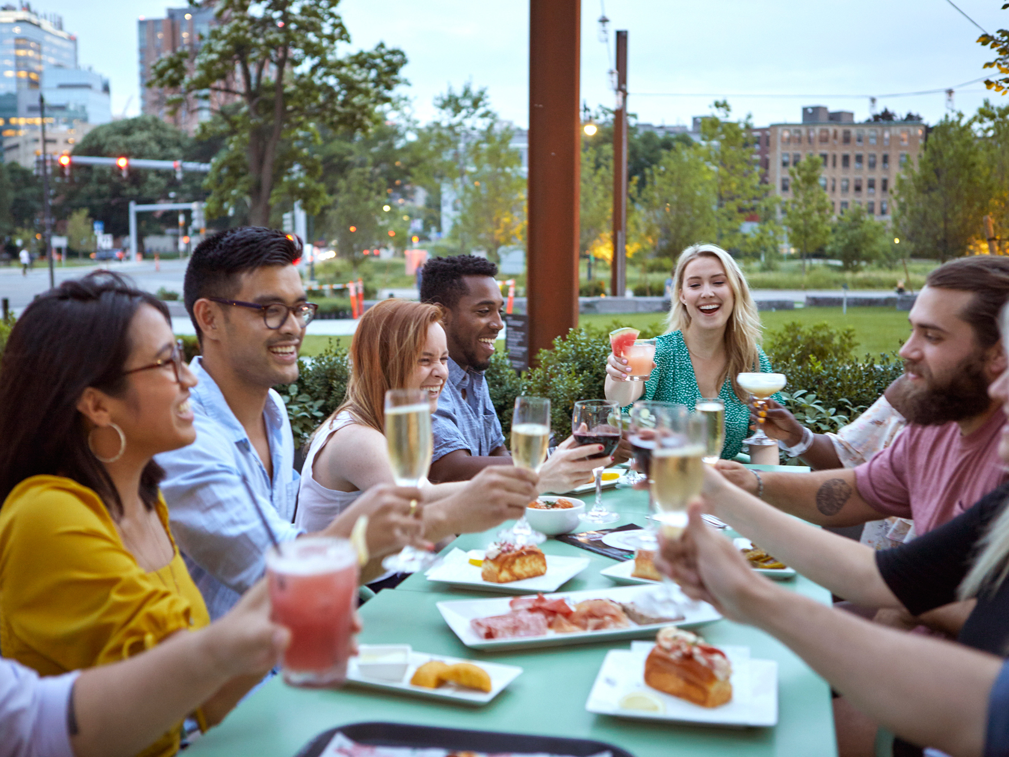
[[[719,461],[726,478],[821,526],[889,516],[917,534],[940,526],[1006,480],[997,447],[1006,423],[988,386],[1006,368],[997,318],[1009,300],[1009,258],[951,260],[928,275],[900,349],[908,426],[868,462],[809,473],[755,472]]]

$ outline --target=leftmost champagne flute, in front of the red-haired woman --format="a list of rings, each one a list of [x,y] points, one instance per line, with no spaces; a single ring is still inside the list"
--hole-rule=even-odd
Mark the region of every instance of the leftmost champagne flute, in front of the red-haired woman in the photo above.
[[[419,486],[431,467],[431,403],[427,392],[419,389],[390,389],[385,393],[385,444],[393,465],[393,479],[398,486]],[[417,511],[420,518],[420,510]],[[382,567],[400,573],[412,573],[429,566],[435,556],[414,547],[404,547],[399,554],[382,560]]]

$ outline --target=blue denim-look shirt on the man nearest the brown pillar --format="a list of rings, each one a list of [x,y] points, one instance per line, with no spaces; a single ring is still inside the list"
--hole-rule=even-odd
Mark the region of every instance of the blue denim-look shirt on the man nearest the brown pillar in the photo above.
[[[457,449],[468,449],[473,457],[486,457],[504,444],[501,422],[482,371],[463,370],[448,358],[448,381],[438,397],[431,431],[435,439],[432,461]]]

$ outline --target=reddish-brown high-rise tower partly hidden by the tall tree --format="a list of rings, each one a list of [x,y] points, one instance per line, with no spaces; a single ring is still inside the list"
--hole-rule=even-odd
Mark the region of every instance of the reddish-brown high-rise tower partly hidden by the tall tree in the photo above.
[[[169,8],[165,18],[145,18],[137,21],[140,64],[140,112],[157,116],[189,133],[193,133],[202,121],[210,119],[212,110],[225,104],[228,98],[219,93],[207,93],[206,97],[194,98],[186,102],[175,114],[169,112],[170,90],[148,87],[150,69],[162,56],[187,49],[191,60],[200,49],[202,40],[210,33],[217,19],[214,8]]]

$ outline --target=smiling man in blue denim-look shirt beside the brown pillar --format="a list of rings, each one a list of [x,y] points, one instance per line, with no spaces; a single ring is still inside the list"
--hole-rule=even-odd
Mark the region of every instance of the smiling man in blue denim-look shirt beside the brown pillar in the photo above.
[[[468,480],[487,465],[512,464],[484,377],[504,328],[496,274],[496,265],[475,255],[434,257],[424,265],[421,300],[442,306],[449,353],[448,382],[432,425],[432,481]],[[601,449],[575,447],[573,438],[567,439],[540,470],[539,491],[568,492],[587,482],[598,465],[587,457]]]

